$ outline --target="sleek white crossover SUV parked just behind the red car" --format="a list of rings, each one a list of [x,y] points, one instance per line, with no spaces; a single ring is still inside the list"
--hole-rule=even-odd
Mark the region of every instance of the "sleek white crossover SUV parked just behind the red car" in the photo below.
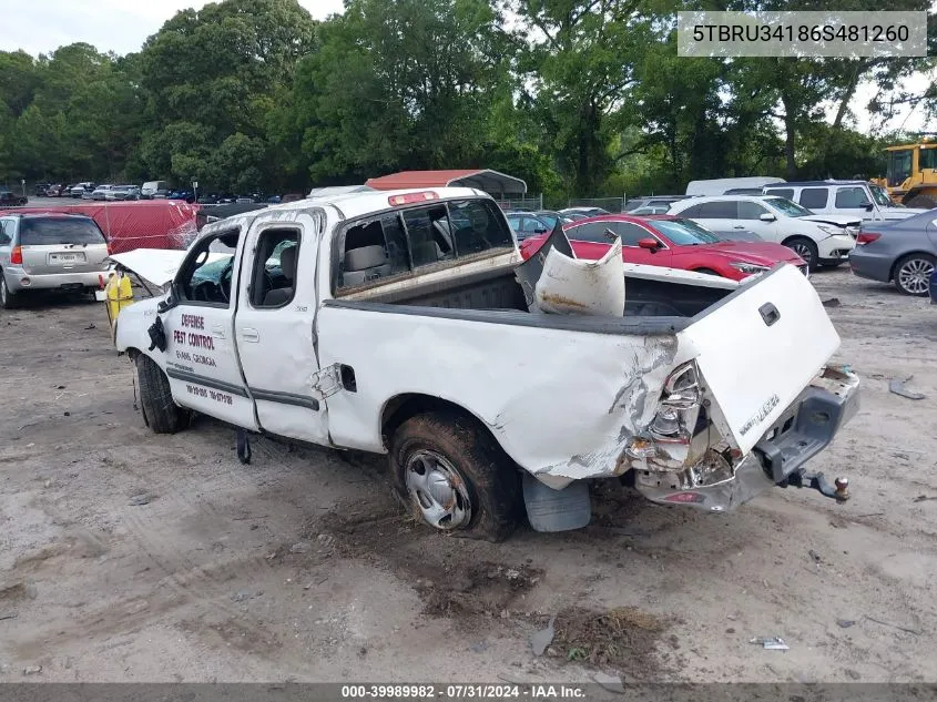
[[[862,218],[814,214],[786,197],[720,195],[673,203],[668,214],[679,214],[714,231],[745,230],[766,242],[784,244],[816,271],[838,266],[856,247]]]

